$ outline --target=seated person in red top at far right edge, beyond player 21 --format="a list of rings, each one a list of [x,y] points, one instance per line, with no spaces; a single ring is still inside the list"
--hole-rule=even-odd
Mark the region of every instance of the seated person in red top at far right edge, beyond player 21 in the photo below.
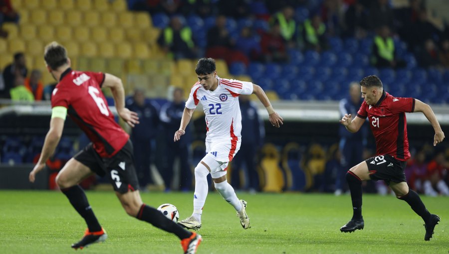
[[[424,182],[426,195],[437,196],[440,194],[449,196],[449,187],[444,181],[447,168],[449,168],[449,162],[446,161],[444,151],[438,150],[434,159],[427,166],[428,180]]]

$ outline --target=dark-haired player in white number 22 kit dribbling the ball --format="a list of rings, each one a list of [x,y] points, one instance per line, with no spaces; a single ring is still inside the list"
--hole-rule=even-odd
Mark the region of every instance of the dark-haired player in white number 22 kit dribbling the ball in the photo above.
[[[195,72],[198,80],[190,92],[186,102],[181,126],[175,132],[174,141],[178,141],[185,133],[192,114],[199,103],[206,114],[206,156],[195,168],[194,211],[192,216],[180,221],[187,229],[201,228],[201,214],[208,195],[209,173],[212,175],[215,188],[223,198],[235,208],[243,229],[249,228],[246,215],[246,202],[238,200],[234,189],[226,180],[226,169],[229,161],[237,153],[241,142],[241,114],[238,96],[255,94],[265,106],[269,121],[274,127],[282,125],[283,119],[274,111],[263,90],[251,82],[222,79],[217,76],[215,60],[201,58]]]

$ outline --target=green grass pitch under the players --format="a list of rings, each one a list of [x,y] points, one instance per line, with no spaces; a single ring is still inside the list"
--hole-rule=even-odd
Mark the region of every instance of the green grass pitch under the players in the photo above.
[[[193,193],[144,193],[145,203],[171,203],[180,219],[191,215]],[[395,197],[364,195],[365,229],[340,233],[352,216],[349,195],[237,193],[248,202],[251,228],[243,230],[234,209],[209,193],[199,231],[199,254],[296,253],[449,253],[449,198],[422,197],[442,221],[434,238],[424,241],[423,222],[407,203]],[[182,253],[179,240],[126,215],[113,192],[87,192],[90,204],[108,232],[105,243],[77,253]],[[85,223],[57,191],[0,191],[0,252],[4,254],[75,253]]]

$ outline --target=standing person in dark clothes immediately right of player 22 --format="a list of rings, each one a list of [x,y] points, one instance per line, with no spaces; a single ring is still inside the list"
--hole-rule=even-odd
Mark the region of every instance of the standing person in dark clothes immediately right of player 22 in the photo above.
[[[231,185],[234,189],[255,192],[260,190],[256,154],[262,146],[265,129],[257,114],[256,106],[249,101],[249,96],[240,95],[238,98],[242,140],[240,152],[232,160]],[[244,181],[240,178],[240,172],[244,175]]]

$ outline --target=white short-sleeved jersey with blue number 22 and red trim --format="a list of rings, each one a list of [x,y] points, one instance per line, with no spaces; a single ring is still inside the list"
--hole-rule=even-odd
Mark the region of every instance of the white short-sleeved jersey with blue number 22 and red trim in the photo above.
[[[225,139],[241,140],[241,113],[238,96],[252,94],[251,82],[222,79],[215,91],[208,91],[197,82],[186,102],[186,108],[195,109],[198,103],[203,105],[206,114],[206,141],[215,142]]]

